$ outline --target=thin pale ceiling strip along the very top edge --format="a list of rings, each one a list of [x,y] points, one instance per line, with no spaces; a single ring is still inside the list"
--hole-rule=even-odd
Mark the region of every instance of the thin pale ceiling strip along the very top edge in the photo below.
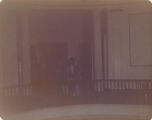
[[[100,5],[100,4],[125,4],[145,2],[148,0],[3,0],[11,4],[44,4],[44,5]]]

